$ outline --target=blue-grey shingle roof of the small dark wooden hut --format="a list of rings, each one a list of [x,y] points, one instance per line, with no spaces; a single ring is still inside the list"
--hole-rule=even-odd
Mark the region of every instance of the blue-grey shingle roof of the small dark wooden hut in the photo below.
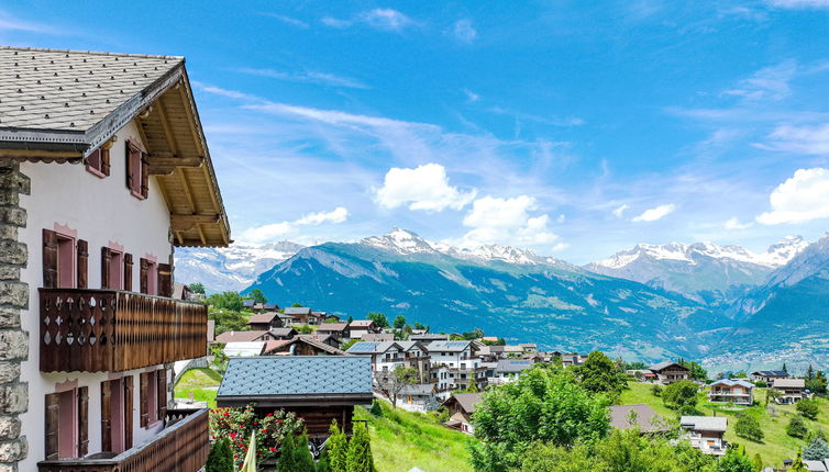
[[[371,393],[367,357],[278,356],[231,359],[218,396]]]

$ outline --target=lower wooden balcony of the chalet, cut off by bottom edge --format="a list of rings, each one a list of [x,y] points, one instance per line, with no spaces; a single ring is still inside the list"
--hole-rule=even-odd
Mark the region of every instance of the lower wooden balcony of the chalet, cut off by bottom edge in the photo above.
[[[183,417],[184,419],[175,419]],[[208,409],[167,414],[168,426],[152,441],[118,456],[57,459],[37,463],[38,472],[196,472],[210,452]]]

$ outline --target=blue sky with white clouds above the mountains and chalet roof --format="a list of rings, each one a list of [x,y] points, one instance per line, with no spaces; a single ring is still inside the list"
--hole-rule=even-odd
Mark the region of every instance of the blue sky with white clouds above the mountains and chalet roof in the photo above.
[[[186,56],[236,240],[829,229],[829,0],[147,5],[0,2],[0,43]]]

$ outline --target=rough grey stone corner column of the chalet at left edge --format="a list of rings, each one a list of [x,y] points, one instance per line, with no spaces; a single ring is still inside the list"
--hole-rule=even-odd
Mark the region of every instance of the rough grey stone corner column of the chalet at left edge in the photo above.
[[[20,269],[29,250],[18,241],[18,228],[26,225],[20,194],[29,190],[20,164],[0,159],[0,472],[18,472],[29,450],[18,417],[29,407],[29,389],[20,381],[20,362],[29,356],[29,334],[20,326],[21,311],[29,308],[29,284],[21,282]]]

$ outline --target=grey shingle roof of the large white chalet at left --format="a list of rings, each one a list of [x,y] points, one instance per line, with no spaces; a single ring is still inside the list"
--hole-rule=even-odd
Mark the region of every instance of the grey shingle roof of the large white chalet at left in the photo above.
[[[184,63],[183,57],[0,46],[2,128],[84,133]],[[16,141],[16,139],[15,139]]]

